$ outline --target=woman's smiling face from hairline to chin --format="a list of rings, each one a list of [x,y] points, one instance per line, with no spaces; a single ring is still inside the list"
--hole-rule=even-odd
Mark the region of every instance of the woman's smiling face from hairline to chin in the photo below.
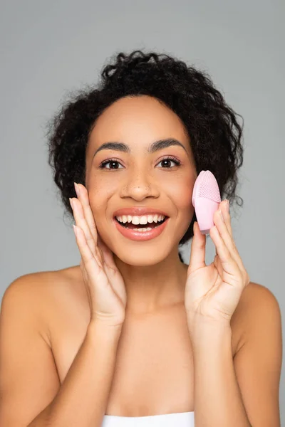
[[[147,151],[162,139],[176,139],[182,147],[170,145]],[[120,142],[126,149],[96,152],[106,142]],[[180,166],[172,159],[164,160],[169,156]],[[121,98],[98,117],[86,150],[86,188],[97,231],[123,262],[154,265],[177,252],[192,221],[196,178],[190,140],[180,118],[154,97]],[[118,231],[115,211],[138,206],[158,209],[169,216],[159,236],[134,241]]]

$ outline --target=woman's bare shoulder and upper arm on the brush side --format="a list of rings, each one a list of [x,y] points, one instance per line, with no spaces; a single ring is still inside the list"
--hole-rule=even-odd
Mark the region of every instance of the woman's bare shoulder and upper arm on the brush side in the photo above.
[[[279,302],[269,288],[249,283],[237,307],[241,327],[234,371],[252,426],[280,426],[282,327]],[[235,314],[235,313],[234,313]]]

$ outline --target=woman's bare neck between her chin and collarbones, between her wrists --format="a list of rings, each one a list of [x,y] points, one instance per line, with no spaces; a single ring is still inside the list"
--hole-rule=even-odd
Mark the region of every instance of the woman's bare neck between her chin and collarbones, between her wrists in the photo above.
[[[114,254],[127,292],[126,314],[155,313],[184,302],[188,265],[178,251],[154,265],[130,265]]]

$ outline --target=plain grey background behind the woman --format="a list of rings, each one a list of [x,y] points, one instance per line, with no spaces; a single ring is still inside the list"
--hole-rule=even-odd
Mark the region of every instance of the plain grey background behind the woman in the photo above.
[[[0,297],[26,273],[78,265],[48,167],[44,126],[69,90],[95,83],[115,52],[170,53],[209,72],[244,117],[244,165],[232,218],[252,281],[284,316],[284,3],[1,1]],[[190,245],[184,260],[189,263]],[[207,263],[214,247],[207,241]],[[285,425],[284,367],[280,406]]]

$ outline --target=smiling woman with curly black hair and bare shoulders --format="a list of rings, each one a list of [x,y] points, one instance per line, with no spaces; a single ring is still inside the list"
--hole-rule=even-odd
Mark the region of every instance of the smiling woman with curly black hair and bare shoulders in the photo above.
[[[280,426],[279,304],[249,281],[227,205],[237,115],[170,56],[120,53],[101,76],[50,124],[81,263],[5,292],[1,426]],[[202,170],[227,196],[210,265],[191,201]],[[178,247],[191,238],[187,265]]]

